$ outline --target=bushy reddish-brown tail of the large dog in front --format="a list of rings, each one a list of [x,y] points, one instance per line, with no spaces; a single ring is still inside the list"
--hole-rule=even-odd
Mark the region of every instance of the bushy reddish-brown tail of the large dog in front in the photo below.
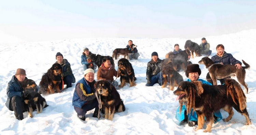
[[[234,79],[226,79],[225,85],[227,86],[227,96],[230,96],[235,104],[239,104],[240,110],[243,111],[246,108],[246,96],[240,84]]]

